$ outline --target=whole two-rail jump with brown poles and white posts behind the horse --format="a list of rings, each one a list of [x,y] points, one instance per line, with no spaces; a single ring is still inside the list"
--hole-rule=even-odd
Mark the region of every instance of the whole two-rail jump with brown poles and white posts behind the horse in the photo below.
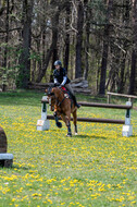
[[[53,115],[47,114],[47,96],[41,99],[41,119],[37,121],[37,130],[45,131],[49,130],[49,120],[54,120]],[[98,102],[78,102],[83,107],[98,107],[98,108],[110,108],[110,109],[124,109],[126,110],[125,120],[114,120],[114,119],[99,119],[99,118],[77,118],[80,122],[98,122],[98,123],[113,123],[123,124],[122,135],[132,136],[133,125],[130,124],[130,109],[133,108],[132,102],[127,101],[126,105],[110,105],[110,104],[98,104]],[[71,120],[73,120],[71,118]]]

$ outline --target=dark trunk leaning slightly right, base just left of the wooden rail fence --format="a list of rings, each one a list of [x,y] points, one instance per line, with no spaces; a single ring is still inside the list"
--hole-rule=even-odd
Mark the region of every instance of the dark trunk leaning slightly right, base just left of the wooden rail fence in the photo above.
[[[105,78],[107,78],[107,63],[108,63],[108,50],[109,50],[109,35],[110,35],[110,17],[113,8],[113,0],[109,0],[108,11],[107,11],[107,24],[104,26],[103,33],[103,51],[101,61],[101,76],[100,76],[100,87],[99,94],[105,94]]]

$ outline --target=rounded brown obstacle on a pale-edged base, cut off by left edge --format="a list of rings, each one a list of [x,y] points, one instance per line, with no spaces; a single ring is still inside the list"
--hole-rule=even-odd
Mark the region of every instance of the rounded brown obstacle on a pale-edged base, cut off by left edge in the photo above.
[[[13,163],[13,155],[8,154],[7,135],[2,127],[0,127],[0,167],[10,168]]]

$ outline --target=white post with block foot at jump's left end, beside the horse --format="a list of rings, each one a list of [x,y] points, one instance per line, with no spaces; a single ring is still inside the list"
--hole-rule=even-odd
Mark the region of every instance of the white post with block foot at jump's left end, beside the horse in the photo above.
[[[37,131],[45,131],[50,127],[49,120],[47,120],[47,96],[42,96],[41,119],[37,121]]]

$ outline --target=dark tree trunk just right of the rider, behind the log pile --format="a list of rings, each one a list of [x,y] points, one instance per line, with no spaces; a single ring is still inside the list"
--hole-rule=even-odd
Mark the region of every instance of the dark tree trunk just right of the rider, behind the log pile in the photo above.
[[[84,27],[84,7],[83,2],[79,1],[78,15],[77,15],[75,78],[82,77],[83,27]]]

